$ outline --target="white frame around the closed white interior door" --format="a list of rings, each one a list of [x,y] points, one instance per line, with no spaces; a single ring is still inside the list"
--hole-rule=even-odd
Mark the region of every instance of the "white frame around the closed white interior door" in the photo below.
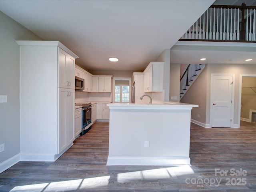
[[[231,100],[232,100],[232,103],[231,103],[231,123],[230,123],[230,128],[238,128],[236,126],[234,126],[234,98],[235,98],[235,74],[226,74],[226,73],[223,73],[223,74],[215,74],[215,73],[212,73],[211,74],[211,80],[210,80],[210,104],[209,104],[209,107],[210,107],[210,128],[212,127],[212,103],[213,103],[213,77],[214,76],[232,76],[232,82],[233,82],[233,86],[232,86],[232,95],[231,95]]]

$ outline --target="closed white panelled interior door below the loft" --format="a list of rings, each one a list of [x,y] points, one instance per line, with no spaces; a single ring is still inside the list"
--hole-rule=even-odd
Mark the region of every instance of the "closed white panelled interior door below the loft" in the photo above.
[[[212,76],[212,127],[231,127],[233,76]]]

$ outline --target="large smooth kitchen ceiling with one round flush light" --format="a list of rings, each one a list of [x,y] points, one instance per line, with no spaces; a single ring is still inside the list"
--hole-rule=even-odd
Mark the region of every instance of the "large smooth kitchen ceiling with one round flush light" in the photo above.
[[[141,71],[171,48],[214,0],[0,0],[0,11],[58,40],[87,70]],[[108,61],[118,57],[118,62]]]

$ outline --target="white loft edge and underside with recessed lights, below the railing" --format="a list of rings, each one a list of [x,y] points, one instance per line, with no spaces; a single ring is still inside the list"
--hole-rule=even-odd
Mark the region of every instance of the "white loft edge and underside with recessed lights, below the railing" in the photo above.
[[[201,58],[206,58],[200,61]],[[245,61],[252,59],[251,61]],[[171,63],[256,64],[256,44],[179,41],[171,49]]]

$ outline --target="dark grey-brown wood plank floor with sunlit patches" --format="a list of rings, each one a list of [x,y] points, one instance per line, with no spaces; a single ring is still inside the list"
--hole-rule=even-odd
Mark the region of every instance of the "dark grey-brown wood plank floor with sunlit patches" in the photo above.
[[[192,123],[191,166],[106,166],[108,128],[96,122],[56,162],[17,163],[0,174],[0,192],[256,192],[255,123]]]

